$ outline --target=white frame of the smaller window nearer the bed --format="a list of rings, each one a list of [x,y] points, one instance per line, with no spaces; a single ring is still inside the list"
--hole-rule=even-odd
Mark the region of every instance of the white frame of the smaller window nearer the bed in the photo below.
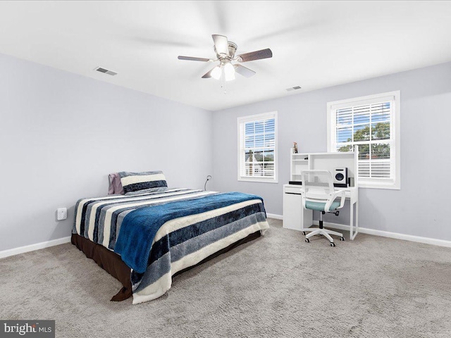
[[[241,164],[242,156],[245,156],[245,123],[259,120],[274,119],[274,176],[242,176]],[[243,182],[264,182],[278,183],[278,131],[277,131],[277,111],[260,113],[255,115],[240,116],[237,118],[237,180]]]

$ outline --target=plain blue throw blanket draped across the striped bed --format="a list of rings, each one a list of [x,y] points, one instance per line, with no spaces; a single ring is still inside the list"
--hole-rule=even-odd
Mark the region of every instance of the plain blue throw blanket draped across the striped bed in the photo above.
[[[137,273],[144,273],[156,232],[175,218],[212,211],[260,196],[228,192],[205,196],[190,201],[175,201],[158,206],[147,206],[128,213],[123,219],[114,251]]]

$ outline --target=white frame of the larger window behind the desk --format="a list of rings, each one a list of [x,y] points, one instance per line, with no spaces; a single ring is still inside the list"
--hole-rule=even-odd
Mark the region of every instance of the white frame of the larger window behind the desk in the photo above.
[[[394,168],[393,178],[378,179],[374,177],[358,177],[359,187],[373,189],[401,189],[400,184],[400,115],[401,115],[401,92],[385,92],[368,96],[360,96],[352,99],[331,101],[327,103],[327,149],[328,152],[338,152],[336,149],[336,111],[340,108],[363,106],[373,104],[378,101],[393,101],[390,113],[390,140],[393,149],[390,148],[390,160]],[[358,165],[357,165],[358,168]]]

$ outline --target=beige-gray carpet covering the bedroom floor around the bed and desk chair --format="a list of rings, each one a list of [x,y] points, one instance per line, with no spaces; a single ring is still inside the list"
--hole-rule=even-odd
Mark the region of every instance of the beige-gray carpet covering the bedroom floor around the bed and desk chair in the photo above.
[[[109,301],[121,285],[72,244],[0,272],[0,319],[56,320],[56,337],[451,337],[451,249],[365,234],[307,244],[278,220],[136,306]]]

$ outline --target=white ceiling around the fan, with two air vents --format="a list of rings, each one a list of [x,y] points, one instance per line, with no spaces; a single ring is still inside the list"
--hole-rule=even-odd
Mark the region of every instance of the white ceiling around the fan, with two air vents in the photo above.
[[[445,63],[450,32],[451,1],[0,1],[0,53],[211,111]],[[214,58],[212,34],[273,58],[224,94],[177,58]]]

